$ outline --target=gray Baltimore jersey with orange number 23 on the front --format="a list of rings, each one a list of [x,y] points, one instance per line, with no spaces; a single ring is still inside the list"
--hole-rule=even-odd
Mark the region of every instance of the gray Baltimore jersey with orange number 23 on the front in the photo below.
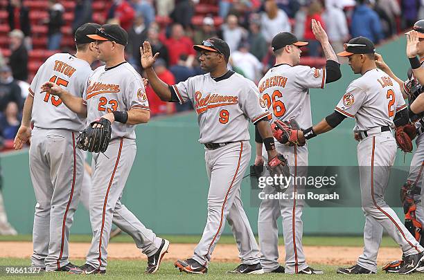
[[[149,110],[141,76],[127,62],[112,68],[96,68],[87,81],[82,99],[87,104],[87,123],[113,111]],[[135,139],[134,129],[135,124],[113,122],[111,139]]]

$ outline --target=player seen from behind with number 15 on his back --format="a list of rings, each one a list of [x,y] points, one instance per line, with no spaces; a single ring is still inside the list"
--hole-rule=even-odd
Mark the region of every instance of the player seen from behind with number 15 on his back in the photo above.
[[[31,138],[29,167],[37,199],[31,263],[46,271],[69,271],[76,267],[69,263],[68,243],[84,169],[76,138],[85,126],[85,117],[69,110],[60,98],[42,93],[41,85],[51,81],[73,96],[82,96],[91,73],[90,64],[98,55],[94,39],[87,35],[98,27],[98,24],[85,24],[76,30],[76,55],[58,53],[40,66],[30,85],[14,142],[15,149],[21,149]]]

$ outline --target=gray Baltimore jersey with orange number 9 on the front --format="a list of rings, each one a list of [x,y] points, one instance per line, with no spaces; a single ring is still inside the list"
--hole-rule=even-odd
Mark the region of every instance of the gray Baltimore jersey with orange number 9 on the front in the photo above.
[[[172,88],[181,104],[193,103],[202,144],[247,141],[249,120],[255,123],[270,115],[259,104],[254,82],[233,71],[215,79],[210,73],[197,75]]]

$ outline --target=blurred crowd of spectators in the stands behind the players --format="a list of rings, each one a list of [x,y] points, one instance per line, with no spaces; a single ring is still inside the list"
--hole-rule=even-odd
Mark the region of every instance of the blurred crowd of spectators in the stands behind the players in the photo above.
[[[195,26],[193,17],[199,1],[104,1],[105,13],[94,19],[92,0],[77,0],[71,30],[90,21],[120,24],[129,35],[127,61],[142,74],[139,47],[143,41],[150,41],[154,53],[160,53],[154,68],[168,84],[202,73],[192,46],[209,37],[220,37],[230,46],[231,68],[258,82],[274,64],[270,42],[278,32],[290,31],[308,41],[302,56],[319,61],[321,46],[312,33],[311,19],[321,22],[333,48],[340,51],[350,37],[362,35],[378,44],[424,18],[424,0],[221,0],[206,1],[215,3],[218,15],[206,12]],[[6,8],[12,31],[10,56],[3,57],[0,52],[0,133],[11,140],[28,94],[28,50],[32,44],[29,9],[21,0],[8,1]],[[48,28],[47,50],[72,52],[60,49],[64,10],[61,1],[48,0],[48,17],[43,21]],[[191,104],[161,102],[150,87],[146,91],[152,115],[192,109]]]

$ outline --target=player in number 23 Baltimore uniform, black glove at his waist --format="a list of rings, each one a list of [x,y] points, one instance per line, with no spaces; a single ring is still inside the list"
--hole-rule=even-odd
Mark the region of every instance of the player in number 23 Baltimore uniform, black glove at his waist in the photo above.
[[[87,115],[87,122],[105,118],[112,123],[112,137],[105,153],[93,153],[92,186],[89,196],[93,240],[85,265],[71,270],[75,274],[104,274],[107,265],[107,243],[112,218],[124,232],[130,234],[137,248],[148,256],[146,273],[159,269],[169,241],[147,229],[127,207],[121,196],[136,156],[136,124],[150,118],[147,96],[140,75],[124,59],[128,35],[116,24],[105,24],[96,34],[98,59],[105,62],[86,81],[84,95],[73,96],[51,82],[43,89],[60,96],[69,109]]]

